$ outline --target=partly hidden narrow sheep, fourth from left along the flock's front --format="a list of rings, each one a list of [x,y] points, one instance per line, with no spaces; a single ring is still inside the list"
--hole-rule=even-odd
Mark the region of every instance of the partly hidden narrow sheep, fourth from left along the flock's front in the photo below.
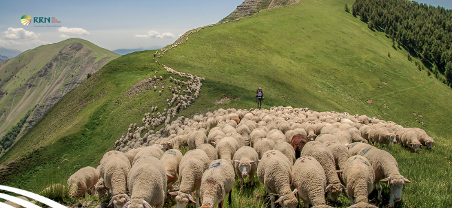
[[[163,163],[165,167],[165,172],[170,174],[173,177],[167,178],[167,185],[165,189],[165,196],[167,194],[168,189],[173,191],[173,184],[176,183],[179,173],[179,163],[181,163],[182,153],[176,149],[167,150],[163,153],[160,161]]]

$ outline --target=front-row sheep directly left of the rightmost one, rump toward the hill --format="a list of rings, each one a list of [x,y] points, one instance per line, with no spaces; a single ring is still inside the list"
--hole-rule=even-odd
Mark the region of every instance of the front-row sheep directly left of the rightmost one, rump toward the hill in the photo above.
[[[351,205],[357,203],[356,207],[376,207],[368,204],[368,196],[373,190],[375,181],[371,163],[365,157],[355,155],[345,161],[342,170],[342,179],[347,186],[347,196]]]

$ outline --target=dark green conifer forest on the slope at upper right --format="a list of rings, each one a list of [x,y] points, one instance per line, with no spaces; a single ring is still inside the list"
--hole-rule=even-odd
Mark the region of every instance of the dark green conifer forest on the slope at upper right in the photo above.
[[[452,87],[452,10],[407,0],[356,0],[351,14],[387,34],[393,47],[407,49]]]

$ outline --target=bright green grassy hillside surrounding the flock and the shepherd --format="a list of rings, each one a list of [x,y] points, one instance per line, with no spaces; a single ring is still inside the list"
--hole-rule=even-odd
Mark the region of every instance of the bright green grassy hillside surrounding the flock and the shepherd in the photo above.
[[[446,115],[451,115],[451,89],[427,78],[425,71],[417,71],[406,60],[406,52],[393,49],[383,34],[370,31],[344,12],[344,3],[352,2],[300,1],[193,34],[187,43],[159,60],[178,71],[206,78],[201,96],[181,115],[219,107],[252,108],[254,90],[262,86],[265,106],[381,115],[399,124],[420,126],[437,141],[433,150],[413,154],[399,146],[384,148],[398,159],[400,172],[413,182],[404,188],[407,200],[402,206],[449,207],[452,187],[446,176],[451,172],[452,158],[446,137],[451,120]],[[63,97],[14,151],[0,159],[3,163],[33,151],[24,160],[30,168],[18,168],[20,174],[0,183],[39,190],[52,181],[65,181],[79,167],[95,166],[128,124],[139,122],[149,106],[161,102],[153,91],[123,95],[135,82],[161,69],[150,62],[152,54],[154,51],[136,52],[112,60]],[[164,82],[170,76],[162,71],[158,74],[165,76]],[[215,106],[214,101],[224,96],[239,99]],[[373,100],[373,104],[366,100]],[[423,115],[418,119],[425,126],[416,122],[413,113]],[[232,207],[260,207],[263,194],[262,185],[241,191],[236,185]],[[371,198],[375,196],[374,191]],[[382,205],[388,196],[384,194]],[[339,206],[347,207],[348,199],[341,201]]]

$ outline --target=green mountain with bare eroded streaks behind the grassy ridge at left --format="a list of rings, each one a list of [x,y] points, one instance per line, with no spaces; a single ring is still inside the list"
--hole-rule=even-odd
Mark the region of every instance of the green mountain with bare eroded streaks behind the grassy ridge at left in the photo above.
[[[88,41],[70,38],[0,62],[0,137],[34,109],[24,123],[22,132],[26,132],[88,73],[119,56]]]

